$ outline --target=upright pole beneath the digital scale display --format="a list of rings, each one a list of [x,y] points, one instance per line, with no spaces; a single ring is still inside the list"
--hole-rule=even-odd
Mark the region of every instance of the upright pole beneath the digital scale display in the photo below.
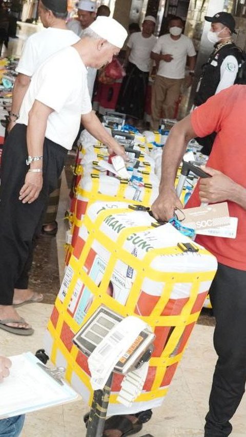
[[[113,372],[103,390],[95,390],[91,405],[86,437],[102,437],[107,417]]]

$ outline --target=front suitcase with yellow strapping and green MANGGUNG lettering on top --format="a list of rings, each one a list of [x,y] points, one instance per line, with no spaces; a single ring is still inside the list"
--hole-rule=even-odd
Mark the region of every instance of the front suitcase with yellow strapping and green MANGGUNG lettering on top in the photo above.
[[[89,404],[87,358],[72,343],[81,325],[103,303],[153,328],[155,349],[140,396],[130,408],[117,403],[122,376],[114,374],[109,415],[161,404],[217,268],[215,257],[199,245],[198,252],[182,252],[177,244],[191,240],[170,223],[153,222],[126,202],[88,207],[48,323],[46,351],[66,367],[66,379]]]

